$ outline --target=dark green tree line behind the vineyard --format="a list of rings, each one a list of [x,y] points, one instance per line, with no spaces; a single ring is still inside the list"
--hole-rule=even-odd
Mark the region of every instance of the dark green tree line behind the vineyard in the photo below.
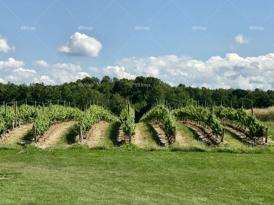
[[[186,101],[205,106],[206,102],[215,105],[265,108],[274,105],[274,91],[260,89],[209,89],[206,87],[194,88],[180,83],[170,86],[168,83],[155,77],[136,77],[134,80],[113,79],[104,76],[101,80],[97,77],[85,77],[76,82],[63,83],[62,85],[44,85],[32,83],[30,85],[14,83],[0,83],[0,101],[12,102],[28,99],[47,103],[50,100],[76,103],[85,107],[90,99],[103,102],[112,112],[119,115],[126,106],[127,99],[136,110],[138,120],[157,101],[168,101],[172,108],[185,105]]]

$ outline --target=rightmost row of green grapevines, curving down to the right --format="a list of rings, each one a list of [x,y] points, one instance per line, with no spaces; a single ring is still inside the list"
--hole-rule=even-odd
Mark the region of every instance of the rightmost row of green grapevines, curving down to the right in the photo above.
[[[229,107],[217,106],[214,112],[218,118],[227,118],[243,123],[249,129],[251,136],[262,137],[265,134],[265,126],[243,108],[234,109]]]

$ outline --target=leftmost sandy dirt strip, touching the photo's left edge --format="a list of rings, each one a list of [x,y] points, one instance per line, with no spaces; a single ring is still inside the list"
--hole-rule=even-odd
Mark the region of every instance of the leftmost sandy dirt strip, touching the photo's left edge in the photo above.
[[[9,130],[9,133],[6,133],[5,136],[2,136],[2,139],[0,138],[0,143],[5,143],[5,142],[14,142],[14,141],[18,141],[21,140],[23,138],[23,136],[25,134],[27,134],[27,132],[29,130],[32,129],[32,124],[25,124],[19,127],[17,126],[17,128],[14,128],[13,130]]]

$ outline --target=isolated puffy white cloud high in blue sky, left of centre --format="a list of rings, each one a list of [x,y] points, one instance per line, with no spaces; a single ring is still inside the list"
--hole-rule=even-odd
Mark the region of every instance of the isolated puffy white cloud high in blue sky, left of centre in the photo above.
[[[100,41],[85,34],[76,32],[70,36],[67,45],[61,46],[58,50],[60,53],[68,56],[96,57],[101,49],[102,44]]]

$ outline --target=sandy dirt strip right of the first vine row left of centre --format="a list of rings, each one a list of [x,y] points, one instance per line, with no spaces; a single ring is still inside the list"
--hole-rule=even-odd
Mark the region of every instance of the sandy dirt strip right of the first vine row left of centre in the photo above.
[[[83,134],[83,143],[93,147],[102,142],[105,139],[105,130],[108,124],[108,122],[100,121],[93,125],[86,135]]]

